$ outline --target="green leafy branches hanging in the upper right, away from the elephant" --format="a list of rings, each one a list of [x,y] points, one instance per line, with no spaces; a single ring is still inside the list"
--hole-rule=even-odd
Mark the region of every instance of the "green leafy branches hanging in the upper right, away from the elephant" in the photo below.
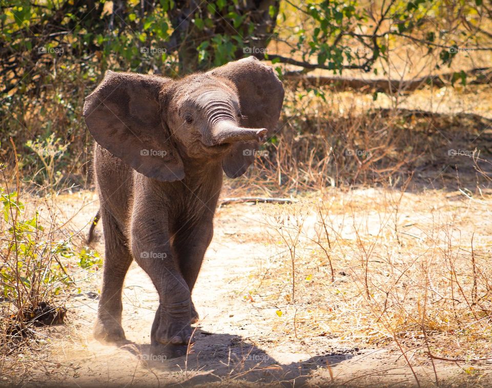
[[[409,40],[427,47],[428,54],[435,49],[442,50],[441,64],[449,65],[458,46],[448,43],[453,35],[452,29],[446,27],[446,20],[456,19],[455,14],[464,14],[476,24],[476,7],[481,3],[452,2],[446,7],[441,3],[400,0],[367,7],[359,0],[308,2],[300,10],[308,15],[309,29],[304,26],[297,29],[291,54],[300,53],[304,62],[315,62],[318,67],[334,73],[344,69],[371,71],[379,58],[388,60],[388,45],[396,46],[398,42]],[[285,12],[281,12],[284,19]],[[455,24],[456,31],[469,28],[461,26],[460,21]],[[460,38],[470,44],[478,43],[471,33],[462,32]]]

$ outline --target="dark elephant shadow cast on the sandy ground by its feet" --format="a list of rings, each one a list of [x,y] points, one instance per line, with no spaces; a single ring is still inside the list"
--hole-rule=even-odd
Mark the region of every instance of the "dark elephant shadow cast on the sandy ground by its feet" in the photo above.
[[[212,382],[242,380],[249,382],[286,382],[293,380],[302,385],[318,368],[334,367],[354,357],[358,349],[327,351],[304,361],[282,364],[267,352],[241,336],[209,333],[198,329],[193,337],[195,343],[188,356],[160,359],[149,355],[150,344],[127,343],[120,347],[144,361],[154,371],[183,372],[185,381],[180,386]]]

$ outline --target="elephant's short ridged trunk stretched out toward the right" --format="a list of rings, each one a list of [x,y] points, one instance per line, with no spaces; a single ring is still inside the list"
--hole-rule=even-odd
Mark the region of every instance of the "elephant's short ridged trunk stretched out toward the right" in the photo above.
[[[212,129],[212,136],[207,145],[220,145],[235,143],[238,141],[257,141],[263,143],[267,140],[265,128],[241,128],[230,121],[220,121]]]

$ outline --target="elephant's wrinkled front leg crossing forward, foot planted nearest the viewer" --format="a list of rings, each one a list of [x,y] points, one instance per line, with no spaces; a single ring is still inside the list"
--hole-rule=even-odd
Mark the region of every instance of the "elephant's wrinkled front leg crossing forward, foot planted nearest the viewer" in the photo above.
[[[132,253],[152,279],[159,295],[151,331],[151,352],[166,357],[186,354],[191,338],[191,293],[172,255],[168,220],[162,209],[141,201],[131,222]]]

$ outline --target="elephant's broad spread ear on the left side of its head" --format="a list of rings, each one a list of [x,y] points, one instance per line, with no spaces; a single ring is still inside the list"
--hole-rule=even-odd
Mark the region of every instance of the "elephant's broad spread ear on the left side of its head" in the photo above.
[[[170,78],[109,71],[84,104],[95,141],[139,173],[160,181],[185,177],[162,122],[159,92]]]

